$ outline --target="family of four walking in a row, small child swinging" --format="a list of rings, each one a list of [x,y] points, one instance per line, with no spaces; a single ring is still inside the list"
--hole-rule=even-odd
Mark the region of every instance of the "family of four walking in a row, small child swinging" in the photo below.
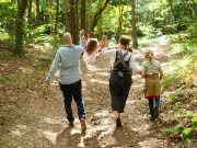
[[[63,94],[65,109],[70,127],[74,126],[74,117],[71,109],[73,98],[78,107],[81,132],[84,133],[86,130],[80,73],[80,58],[82,55],[86,64],[95,62],[100,56],[105,56],[107,54],[112,57],[109,92],[113,110],[112,117],[116,122],[116,127],[121,127],[120,114],[124,112],[132,84],[132,71],[140,73],[146,79],[144,96],[149,100],[150,119],[155,121],[159,117],[163,71],[160,62],[153,59],[152,50],[144,52],[144,61],[142,66],[139,67],[135,61],[132,49],[128,47],[131,38],[127,35],[120,36],[118,45],[111,48],[104,47],[106,44],[106,36],[102,37],[101,43],[99,43],[96,38],[89,38],[85,41],[84,31],[80,31],[79,37],[80,45],[73,45],[71,34],[63,34],[63,45],[57,50],[49,73],[46,77],[46,86],[49,87],[53,75],[59,68],[59,86]]]

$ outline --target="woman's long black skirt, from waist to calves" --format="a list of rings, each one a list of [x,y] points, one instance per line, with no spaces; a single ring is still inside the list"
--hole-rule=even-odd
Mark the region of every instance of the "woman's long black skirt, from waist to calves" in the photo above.
[[[112,99],[112,110],[123,113],[130,91],[132,80],[131,73],[112,71],[109,78],[109,91]]]

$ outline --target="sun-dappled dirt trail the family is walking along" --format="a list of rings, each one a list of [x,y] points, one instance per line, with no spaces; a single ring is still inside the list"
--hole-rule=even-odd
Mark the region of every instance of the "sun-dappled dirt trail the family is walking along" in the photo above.
[[[166,62],[167,44],[151,47],[162,62]],[[144,48],[143,48],[144,49]],[[143,50],[142,49],[142,50]],[[137,60],[141,61],[140,53]],[[83,67],[83,71],[84,67]],[[1,148],[181,148],[160,134],[158,124],[148,119],[148,102],[142,99],[143,80],[135,75],[129,99],[123,114],[123,128],[115,129],[111,119],[108,91],[109,57],[102,57],[83,73],[83,96],[88,130],[80,134],[79,121],[68,128],[62,96],[57,79],[54,80],[50,99],[31,99],[19,103],[12,126],[0,135]],[[31,93],[31,92],[30,92]],[[46,92],[47,93],[47,92]],[[33,98],[30,95],[30,98]],[[74,106],[76,109],[76,106]]]

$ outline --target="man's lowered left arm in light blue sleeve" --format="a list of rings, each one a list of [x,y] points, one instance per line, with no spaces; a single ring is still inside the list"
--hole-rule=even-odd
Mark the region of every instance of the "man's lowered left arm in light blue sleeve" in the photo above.
[[[58,69],[58,66],[59,66],[59,62],[60,62],[60,55],[59,55],[59,52],[57,52],[56,56],[55,56],[55,59],[50,66],[50,70],[45,79],[46,82],[49,83],[50,79],[53,78],[54,76],[54,72]]]

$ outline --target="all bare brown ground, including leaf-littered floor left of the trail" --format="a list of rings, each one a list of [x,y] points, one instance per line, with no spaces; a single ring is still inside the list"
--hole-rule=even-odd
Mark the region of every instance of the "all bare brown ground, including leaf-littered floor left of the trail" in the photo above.
[[[151,48],[162,62],[169,61],[166,43]],[[139,57],[137,60],[141,62],[140,53],[136,53]],[[77,115],[76,127],[68,127],[57,78],[54,79],[51,88],[44,88],[43,80],[47,65],[43,72],[39,72],[38,69],[37,76],[43,76],[40,78],[28,72],[26,65],[32,65],[33,61],[22,60],[14,66],[15,62],[0,64],[1,71],[3,71],[1,76],[9,75],[14,79],[12,86],[0,83],[1,148],[185,147],[183,143],[175,144],[163,135],[160,128],[162,116],[164,116],[162,113],[160,122],[149,122],[148,102],[142,95],[143,80],[137,75],[134,76],[135,83],[123,114],[124,127],[115,129],[115,123],[111,119],[108,91],[109,57],[99,59],[96,64],[90,65],[88,70],[82,66],[88,122],[85,135],[80,134]],[[19,75],[19,72],[23,75]],[[74,104],[73,109],[76,111]]]

